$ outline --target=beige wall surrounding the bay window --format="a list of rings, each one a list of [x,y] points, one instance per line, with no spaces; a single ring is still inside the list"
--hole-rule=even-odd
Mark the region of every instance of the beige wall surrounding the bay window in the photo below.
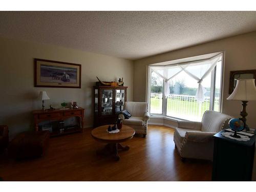
[[[134,101],[145,101],[146,99],[147,65],[219,51],[225,51],[223,113],[238,117],[242,106],[241,101],[226,100],[228,97],[229,72],[256,69],[256,32],[211,41],[134,61]],[[256,127],[255,109],[256,101],[249,101],[247,121],[251,127]]]

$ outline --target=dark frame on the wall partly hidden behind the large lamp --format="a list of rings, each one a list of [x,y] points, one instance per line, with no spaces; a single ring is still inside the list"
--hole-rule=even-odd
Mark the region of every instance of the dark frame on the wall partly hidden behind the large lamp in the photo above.
[[[239,70],[230,71],[229,76],[229,90],[228,93],[231,94],[236,87],[237,79],[255,79],[256,84],[256,69],[254,70]]]

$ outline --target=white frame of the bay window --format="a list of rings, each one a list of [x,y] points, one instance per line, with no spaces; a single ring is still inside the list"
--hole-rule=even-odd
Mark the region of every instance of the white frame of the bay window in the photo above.
[[[219,100],[219,112],[222,112],[222,100],[223,100],[223,76],[224,76],[224,52],[221,52],[222,54],[222,59],[219,60],[221,61],[221,79],[220,79],[220,100]],[[201,55],[200,55],[201,56]],[[194,60],[191,60],[191,62],[193,62]],[[219,62],[218,61],[218,62]],[[175,63],[173,65],[178,65],[180,63]],[[165,98],[165,81],[163,80],[163,99],[162,99],[162,114],[155,114],[155,113],[151,113],[151,80],[152,80],[152,69],[151,67],[153,67],[154,64],[152,65],[148,65],[147,66],[147,102],[148,102],[148,112],[150,112],[150,115],[152,116],[159,116],[159,117],[166,117],[166,118],[170,118],[170,119],[181,119],[178,117],[173,117],[173,116],[167,116],[167,98]],[[160,66],[159,66],[160,67]],[[217,69],[217,65],[215,66],[214,70],[211,71],[211,87],[210,87],[210,106],[209,106],[209,110],[214,110],[214,105],[215,105],[215,90],[216,90],[216,70]],[[181,120],[187,120],[187,119],[181,119]],[[189,121],[189,120],[187,120]]]

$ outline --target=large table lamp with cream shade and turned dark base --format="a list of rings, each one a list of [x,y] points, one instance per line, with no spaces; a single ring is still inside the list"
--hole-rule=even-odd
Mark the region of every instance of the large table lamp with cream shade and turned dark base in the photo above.
[[[240,100],[242,101],[242,111],[240,118],[244,122],[244,127],[246,131],[250,131],[248,125],[246,124],[246,105],[248,101],[256,100],[256,87],[255,87],[255,79],[238,79],[236,88],[227,100]]]

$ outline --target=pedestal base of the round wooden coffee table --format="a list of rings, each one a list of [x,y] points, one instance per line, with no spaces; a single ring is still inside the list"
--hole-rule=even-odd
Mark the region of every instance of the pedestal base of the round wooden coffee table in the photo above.
[[[129,146],[123,146],[120,143],[108,143],[105,145],[105,147],[102,150],[98,151],[97,154],[104,155],[104,156],[112,155],[114,156],[116,161],[119,161],[120,157],[118,155],[118,151],[127,151],[129,149],[130,149]]]

